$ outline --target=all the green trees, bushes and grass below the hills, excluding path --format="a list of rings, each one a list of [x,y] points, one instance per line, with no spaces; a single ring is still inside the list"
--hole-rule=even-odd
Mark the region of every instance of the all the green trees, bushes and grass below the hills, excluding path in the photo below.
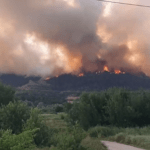
[[[0,85],[0,150],[106,150],[102,139],[150,146],[149,91],[111,88],[83,93],[73,104],[39,108],[14,94]]]

